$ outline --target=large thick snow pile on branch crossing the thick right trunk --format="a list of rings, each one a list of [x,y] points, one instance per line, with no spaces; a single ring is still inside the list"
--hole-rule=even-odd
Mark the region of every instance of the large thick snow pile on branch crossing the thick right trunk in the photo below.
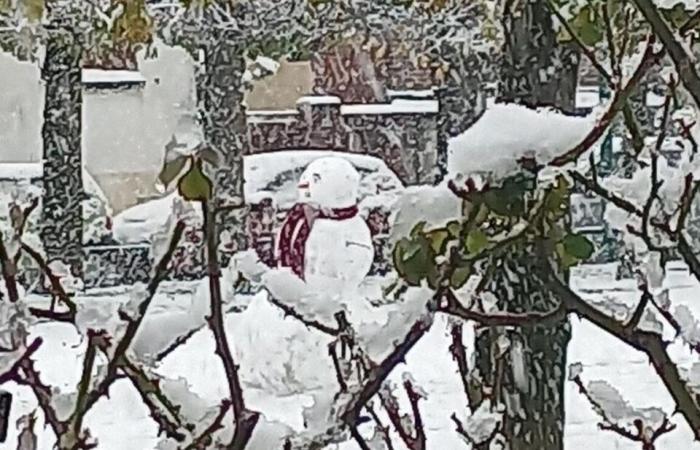
[[[552,109],[493,104],[450,140],[448,172],[452,177],[490,173],[501,178],[517,171],[523,157],[547,163],[579,144],[595,126],[596,117],[597,112],[573,117]]]

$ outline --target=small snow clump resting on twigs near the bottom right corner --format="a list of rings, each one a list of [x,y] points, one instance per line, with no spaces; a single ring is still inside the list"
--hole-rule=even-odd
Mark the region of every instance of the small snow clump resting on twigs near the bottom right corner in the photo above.
[[[637,419],[645,426],[658,428],[666,414],[659,408],[634,408],[622,398],[620,392],[606,381],[588,383],[588,394],[610,421],[622,426],[632,426]]]

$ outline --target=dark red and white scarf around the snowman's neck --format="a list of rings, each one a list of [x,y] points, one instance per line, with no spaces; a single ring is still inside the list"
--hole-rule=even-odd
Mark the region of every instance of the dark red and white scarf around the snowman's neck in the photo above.
[[[289,267],[304,279],[306,241],[316,219],[346,220],[357,215],[357,205],[347,208],[317,209],[306,203],[297,203],[289,210],[282,224],[277,246],[277,266]]]

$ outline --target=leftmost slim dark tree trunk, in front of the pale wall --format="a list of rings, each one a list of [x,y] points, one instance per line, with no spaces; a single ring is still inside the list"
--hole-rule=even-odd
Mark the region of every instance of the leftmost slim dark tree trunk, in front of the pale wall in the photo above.
[[[41,240],[48,261],[62,260],[82,276],[82,42],[60,17],[48,28],[42,78],[46,86]]]

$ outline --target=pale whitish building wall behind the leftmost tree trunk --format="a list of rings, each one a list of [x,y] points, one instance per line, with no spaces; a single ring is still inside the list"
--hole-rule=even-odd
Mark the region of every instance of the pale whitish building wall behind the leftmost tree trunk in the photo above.
[[[194,68],[187,53],[158,45],[139,61],[146,83],[128,90],[86,89],[83,158],[117,209],[153,192],[163,146],[194,110]],[[0,163],[42,155],[44,87],[39,65],[0,53]]]

